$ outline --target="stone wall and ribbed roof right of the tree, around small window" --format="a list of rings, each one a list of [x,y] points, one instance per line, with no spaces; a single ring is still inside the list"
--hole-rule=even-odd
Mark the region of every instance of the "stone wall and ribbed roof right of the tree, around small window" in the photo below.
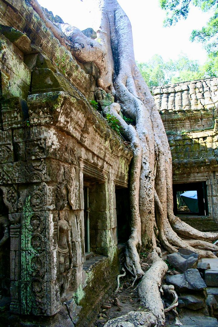
[[[153,89],[173,160],[173,183],[206,182],[208,217],[218,221],[217,78]],[[206,217],[183,217],[200,230],[217,229]]]

